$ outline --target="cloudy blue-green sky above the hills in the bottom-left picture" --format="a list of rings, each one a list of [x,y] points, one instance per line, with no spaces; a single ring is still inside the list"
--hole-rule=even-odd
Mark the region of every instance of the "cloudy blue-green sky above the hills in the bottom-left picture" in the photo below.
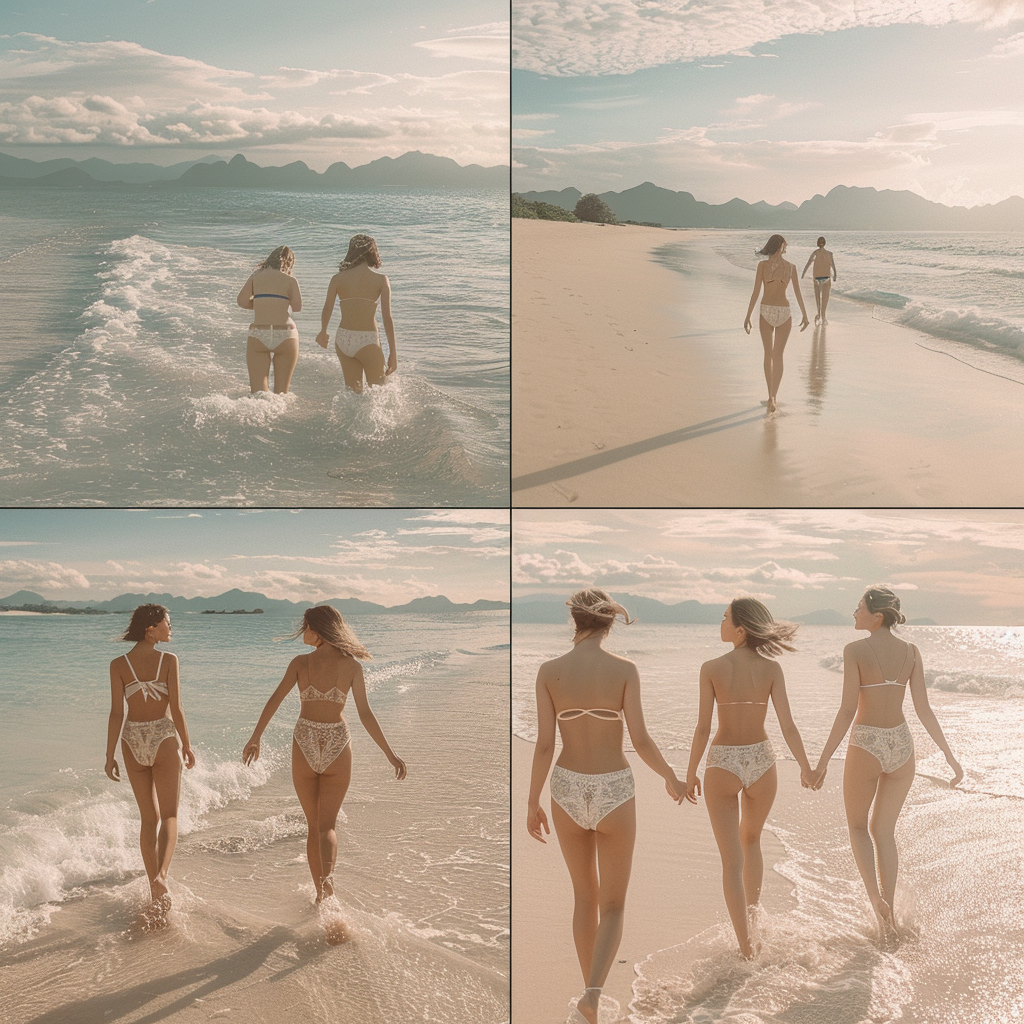
[[[506,510],[0,511],[0,597],[507,601]]]

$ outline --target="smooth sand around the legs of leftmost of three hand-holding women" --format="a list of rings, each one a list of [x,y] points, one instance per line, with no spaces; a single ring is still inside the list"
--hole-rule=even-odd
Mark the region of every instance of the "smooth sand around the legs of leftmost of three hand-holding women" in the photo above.
[[[634,965],[706,929],[721,926],[735,941],[722,897],[721,862],[703,804],[677,807],[664,783],[635,755],[628,754],[636,779],[637,844],[626,908],[623,942],[604,993],[627,1016],[633,997]],[[526,833],[526,799],[534,744],[512,739],[512,1022],[561,1024],[568,1005],[583,991],[572,946],[572,888],[554,833],[542,846]],[[670,758],[680,774],[685,761]],[[680,763],[682,762],[682,763]],[[799,770],[779,764],[779,800],[796,787]],[[783,781],[785,784],[783,784]],[[542,805],[550,808],[545,786]],[[765,857],[764,906],[770,912],[795,905],[791,883],[771,870],[784,853],[770,833]],[[602,1021],[604,1020],[602,1016]]]

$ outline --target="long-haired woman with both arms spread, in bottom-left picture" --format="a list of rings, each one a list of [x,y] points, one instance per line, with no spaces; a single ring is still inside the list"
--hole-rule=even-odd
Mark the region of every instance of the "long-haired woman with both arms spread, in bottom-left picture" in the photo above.
[[[335,826],[352,775],[348,723],[342,716],[349,693],[355,698],[362,727],[394,766],[395,778],[406,777],[406,763],[388,745],[367,700],[362,666],[356,658],[369,659],[370,652],[340,612],[329,604],[307,608],[302,625],[289,639],[299,636],[313,650],[292,658],[242,752],[242,761],[250,765],[259,759],[263,730],[281,701],[298,685],[301,703],[292,734],[292,781],[306,816],[306,863],[321,903],[334,894]]]

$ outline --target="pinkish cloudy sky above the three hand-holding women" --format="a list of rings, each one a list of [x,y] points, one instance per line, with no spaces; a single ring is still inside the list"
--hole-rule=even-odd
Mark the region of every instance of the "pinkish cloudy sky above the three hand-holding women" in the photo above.
[[[513,600],[597,586],[852,623],[886,584],[907,618],[1024,625],[1024,510],[516,510],[512,554]]]

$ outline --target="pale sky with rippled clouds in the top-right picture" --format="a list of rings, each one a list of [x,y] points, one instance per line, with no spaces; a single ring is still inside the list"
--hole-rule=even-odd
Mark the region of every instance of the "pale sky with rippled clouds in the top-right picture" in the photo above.
[[[513,186],[1024,196],[1024,0],[517,0]]]

